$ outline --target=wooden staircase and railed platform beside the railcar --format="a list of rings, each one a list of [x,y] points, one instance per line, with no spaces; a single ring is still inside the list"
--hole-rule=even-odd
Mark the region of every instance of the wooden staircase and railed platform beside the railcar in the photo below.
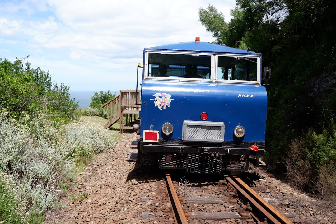
[[[102,105],[100,108],[108,108],[108,122],[104,128],[109,128],[120,120],[120,134],[124,129],[133,129],[134,124],[138,124],[141,91],[120,90],[120,94]],[[137,102],[136,102],[137,101]]]

